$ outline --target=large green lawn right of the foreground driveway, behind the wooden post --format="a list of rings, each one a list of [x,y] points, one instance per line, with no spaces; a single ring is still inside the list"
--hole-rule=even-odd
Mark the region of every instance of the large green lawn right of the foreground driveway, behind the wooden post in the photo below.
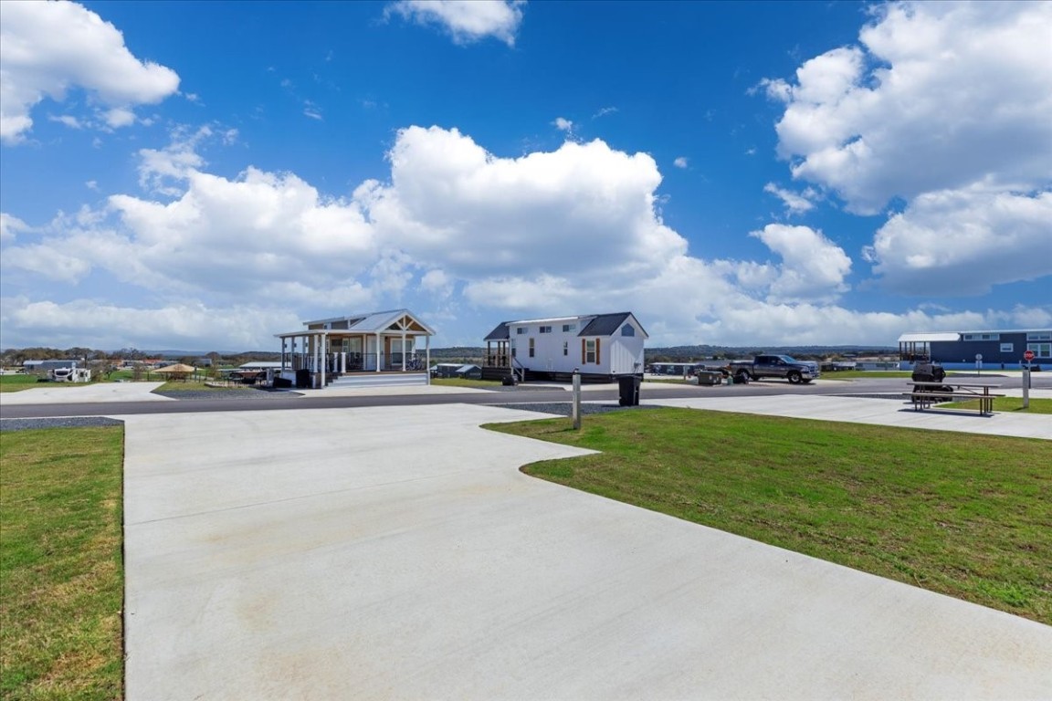
[[[492,425],[524,472],[1052,623],[1049,442],[690,409]]]

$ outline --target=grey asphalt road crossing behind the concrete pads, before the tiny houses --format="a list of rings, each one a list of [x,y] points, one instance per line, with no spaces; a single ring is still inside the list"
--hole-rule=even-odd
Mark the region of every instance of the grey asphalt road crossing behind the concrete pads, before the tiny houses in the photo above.
[[[954,375],[955,379],[971,378],[969,375]],[[1019,389],[1018,376],[983,373],[979,382],[999,384],[1002,389]],[[854,380],[820,379],[812,385],[790,385],[784,380],[753,382],[748,385],[722,385],[720,387],[697,387],[694,385],[662,384],[645,382],[641,390],[643,399],[669,399],[696,396],[763,396],[775,394],[888,394],[905,391],[908,379],[859,378]],[[1034,373],[1032,387],[1052,389],[1052,373]],[[618,401],[616,389],[588,390],[583,393],[585,401]],[[508,391],[470,392],[464,394],[361,394],[332,395],[313,392],[308,396],[292,396],[287,399],[267,396],[246,399],[180,399],[178,401],[108,401],[98,404],[41,404],[3,406],[0,403],[0,418],[55,418],[68,416],[123,416],[136,414],[174,414],[196,412],[230,411],[274,411],[345,409],[350,407],[406,407],[441,404],[472,405],[514,405],[523,403],[570,401],[570,393],[563,389],[544,390],[519,388]]]

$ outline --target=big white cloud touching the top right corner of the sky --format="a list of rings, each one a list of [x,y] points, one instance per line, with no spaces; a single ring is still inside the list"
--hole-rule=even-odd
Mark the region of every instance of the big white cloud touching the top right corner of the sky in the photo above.
[[[784,101],[778,152],[793,177],[851,211],[978,181],[1048,185],[1052,163],[1052,3],[894,2],[859,46],[764,82]]]

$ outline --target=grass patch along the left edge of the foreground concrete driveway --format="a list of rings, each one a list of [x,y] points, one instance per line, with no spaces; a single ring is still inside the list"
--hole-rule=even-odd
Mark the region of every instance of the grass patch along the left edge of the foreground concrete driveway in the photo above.
[[[0,433],[0,697],[123,696],[120,427]]]

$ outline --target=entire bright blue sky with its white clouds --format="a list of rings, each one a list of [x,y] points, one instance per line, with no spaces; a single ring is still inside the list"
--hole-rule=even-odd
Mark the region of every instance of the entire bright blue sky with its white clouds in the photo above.
[[[1052,3],[0,3],[0,345],[1052,326]]]

